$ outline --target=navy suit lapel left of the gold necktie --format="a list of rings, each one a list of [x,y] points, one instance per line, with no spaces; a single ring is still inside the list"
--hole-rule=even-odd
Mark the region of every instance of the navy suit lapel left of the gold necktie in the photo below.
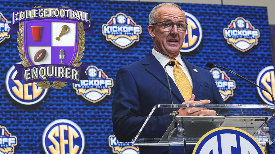
[[[145,70],[147,70],[157,80],[159,80],[162,84],[164,84],[164,86],[166,86],[168,90],[168,83],[166,80],[164,68],[151,52],[144,58],[142,65],[148,65],[147,67],[145,67]],[[169,78],[172,93],[178,98],[180,102],[184,102],[184,99],[180,94],[178,87],[176,86],[172,78],[170,78],[170,76],[168,76],[168,78]]]

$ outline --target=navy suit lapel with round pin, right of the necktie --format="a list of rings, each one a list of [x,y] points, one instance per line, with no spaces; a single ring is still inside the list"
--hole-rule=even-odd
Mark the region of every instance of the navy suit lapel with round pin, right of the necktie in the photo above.
[[[191,75],[192,78],[192,82],[193,82],[193,94],[195,95],[195,100],[197,100],[197,96],[199,93],[199,88],[201,85],[201,81],[200,81],[200,76],[199,76],[199,72],[195,72],[193,69],[197,68],[197,66],[191,64],[190,62],[188,62],[186,59],[183,58],[183,56],[181,56],[181,59],[184,61],[186,67],[189,70],[189,73]]]

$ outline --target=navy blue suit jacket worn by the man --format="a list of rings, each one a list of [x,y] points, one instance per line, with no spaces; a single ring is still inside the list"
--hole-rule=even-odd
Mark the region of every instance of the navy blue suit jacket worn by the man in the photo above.
[[[193,81],[195,100],[211,101],[210,104],[224,104],[211,72],[192,65],[181,56]],[[195,72],[193,69],[198,70]],[[174,104],[184,102],[178,87],[169,77]],[[170,94],[164,68],[150,52],[145,58],[117,72],[112,120],[115,137],[120,142],[130,142],[142,127],[145,119],[156,104],[170,104]],[[158,110],[146,124],[150,130],[143,130],[143,135],[161,137],[172,122],[169,111]],[[170,110],[170,109],[169,109]],[[217,113],[224,111],[217,110]],[[139,147],[140,153],[162,153],[168,147]]]

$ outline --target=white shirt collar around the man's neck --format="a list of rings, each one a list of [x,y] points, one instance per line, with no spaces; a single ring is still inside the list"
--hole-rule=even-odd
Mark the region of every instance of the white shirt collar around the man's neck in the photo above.
[[[162,65],[162,67],[164,68],[164,66],[166,64],[168,64],[169,60],[171,58],[164,56],[163,54],[161,54],[160,52],[157,52],[154,48],[152,49],[152,54],[156,57],[156,59],[160,62],[160,64]],[[178,60],[178,64],[183,66],[184,68],[186,67],[184,62],[182,61],[182,59],[180,58],[180,54],[178,54],[178,56],[175,58],[176,60]]]

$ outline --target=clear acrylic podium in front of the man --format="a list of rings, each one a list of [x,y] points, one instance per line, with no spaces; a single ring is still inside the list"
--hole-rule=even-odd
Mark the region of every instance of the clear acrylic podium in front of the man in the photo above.
[[[175,108],[208,108],[219,112],[213,117],[180,117],[168,116]],[[272,113],[274,105],[182,105],[158,104],[154,106],[136,137],[133,146],[195,146],[207,132],[222,127],[239,128],[252,135],[262,146],[265,153],[270,153],[274,142]],[[228,114],[229,113],[229,114]],[[165,127],[165,129],[163,129]],[[162,129],[158,129],[162,128]],[[275,129],[275,128],[274,128]],[[166,131],[164,131],[166,130]],[[189,152],[190,153],[190,152]]]

